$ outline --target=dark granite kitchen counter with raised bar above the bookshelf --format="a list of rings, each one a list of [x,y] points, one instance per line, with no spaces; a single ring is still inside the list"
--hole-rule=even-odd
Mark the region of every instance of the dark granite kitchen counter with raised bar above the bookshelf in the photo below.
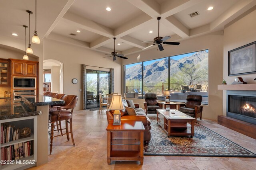
[[[0,120],[13,119],[41,115],[41,111],[36,111],[36,106],[62,105],[64,100],[38,95],[34,98],[22,96],[22,101],[13,104],[11,98],[0,98]]]

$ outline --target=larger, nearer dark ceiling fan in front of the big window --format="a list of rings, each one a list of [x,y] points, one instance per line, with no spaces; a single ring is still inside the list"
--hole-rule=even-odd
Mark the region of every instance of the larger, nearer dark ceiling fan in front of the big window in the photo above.
[[[154,38],[154,41],[143,41],[142,43],[154,43],[154,44],[152,44],[152,45],[150,45],[150,46],[148,46],[148,47],[145,47],[144,49],[147,49],[147,48],[152,47],[152,46],[154,46],[154,45],[157,44],[159,50],[160,50],[160,51],[163,51],[164,48],[163,48],[163,46],[162,46],[161,43],[163,43],[163,44],[168,44],[168,45],[179,45],[179,44],[180,44],[180,43],[178,43],[178,42],[167,42],[166,40],[169,39],[170,36],[165,36],[165,37],[160,37],[160,36],[159,36],[159,23],[160,23],[160,19],[161,19],[161,17],[158,17],[158,18],[157,18],[157,20],[158,20],[158,37]],[[143,50],[144,50],[144,49],[143,49]]]

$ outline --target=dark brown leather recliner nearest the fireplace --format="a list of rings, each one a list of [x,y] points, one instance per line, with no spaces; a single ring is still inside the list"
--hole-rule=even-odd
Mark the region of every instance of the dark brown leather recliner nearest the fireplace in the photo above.
[[[198,94],[188,94],[186,96],[186,100],[187,102],[185,104],[180,104],[179,111],[196,119],[200,117],[200,120],[202,120],[203,106],[200,106],[202,102],[202,96]]]

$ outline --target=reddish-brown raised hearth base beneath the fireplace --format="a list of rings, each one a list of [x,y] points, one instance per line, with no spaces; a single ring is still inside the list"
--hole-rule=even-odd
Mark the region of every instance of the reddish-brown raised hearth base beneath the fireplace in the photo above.
[[[218,115],[218,124],[256,139],[256,125],[224,115]]]

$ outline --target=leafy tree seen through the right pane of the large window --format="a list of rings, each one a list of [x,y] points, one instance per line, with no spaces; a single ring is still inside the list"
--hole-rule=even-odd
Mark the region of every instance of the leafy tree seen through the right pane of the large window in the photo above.
[[[199,64],[184,64],[177,74],[180,78],[190,82],[189,85],[191,85],[194,82],[197,84],[200,81],[207,81],[208,70],[206,68],[200,68]]]

